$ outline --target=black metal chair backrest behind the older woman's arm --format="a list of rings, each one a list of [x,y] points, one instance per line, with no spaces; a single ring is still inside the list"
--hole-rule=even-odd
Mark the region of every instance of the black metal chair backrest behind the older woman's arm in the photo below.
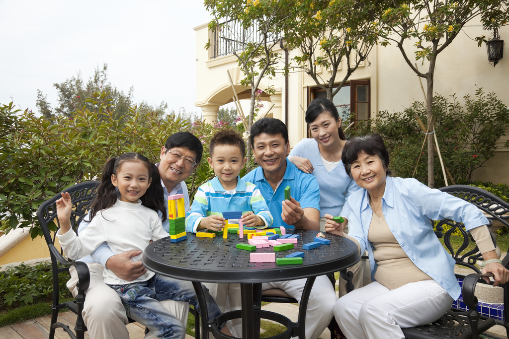
[[[486,218],[488,218],[490,222],[488,227],[493,225],[494,220],[499,221],[502,223],[502,225],[509,227],[509,203],[503,201],[490,192],[478,187],[466,185],[446,186],[439,190],[442,192],[447,192],[450,195],[476,205],[477,208],[485,213]],[[450,219],[443,219],[439,221],[437,224],[437,233],[443,231],[444,225],[450,227],[444,234],[444,244],[449,253],[456,260],[456,263],[471,268],[475,272],[480,273],[479,269],[475,266],[475,263],[477,260],[483,260],[483,257],[480,253],[477,253],[479,251],[477,246],[475,246],[474,249],[462,254],[462,252],[468,247],[470,240],[472,240],[470,234],[465,231],[465,228],[462,224],[458,224]],[[451,237],[453,236],[453,233],[456,232],[457,234],[458,231],[463,235],[463,243],[460,245],[459,249],[454,250],[453,245],[451,244]],[[491,236],[493,243],[496,245],[495,237],[493,234]],[[502,261],[502,264],[505,267],[508,267],[508,261],[509,257],[506,256]]]

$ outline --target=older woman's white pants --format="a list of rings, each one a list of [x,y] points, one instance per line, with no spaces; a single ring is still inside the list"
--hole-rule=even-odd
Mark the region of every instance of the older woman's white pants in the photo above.
[[[434,280],[389,290],[373,282],[337,300],[334,317],[348,339],[404,338],[402,328],[440,318],[453,298]]]

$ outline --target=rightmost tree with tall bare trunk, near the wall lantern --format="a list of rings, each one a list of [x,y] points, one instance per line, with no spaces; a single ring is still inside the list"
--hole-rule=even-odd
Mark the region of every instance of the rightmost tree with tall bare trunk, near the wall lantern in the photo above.
[[[426,108],[428,132],[434,130],[433,117],[433,81],[437,56],[461,32],[462,28],[479,19],[484,29],[493,29],[505,25],[509,19],[507,0],[392,0],[392,6],[385,10],[382,20],[385,32],[383,45],[394,43],[400,50],[410,69],[417,76],[426,79]],[[480,38],[480,40],[479,40]],[[482,41],[482,37],[477,40]],[[413,45],[409,45],[411,41]],[[412,47],[410,47],[412,46]],[[428,71],[421,72],[412,64],[411,53],[415,59],[428,61]],[[433,188],[434,153],[433,134],[428,134],[428,186]]]

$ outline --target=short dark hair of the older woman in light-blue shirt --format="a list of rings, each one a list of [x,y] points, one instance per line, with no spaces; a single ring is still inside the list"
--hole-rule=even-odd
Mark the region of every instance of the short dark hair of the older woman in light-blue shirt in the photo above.
[[[386,168],[385,173],[387,175],[391,174],[389,170],[389,151],[385,147],[382,137],[378,134],[368,134],[350,139],[345,144],[345,148],[343,148],[341,161],[345,165],[345,171],[351,179],[353,179],[353,177],[350,167],[352,163],[359,158],[359,153],[361,152],[365,152],[370,156],[377,155]]]

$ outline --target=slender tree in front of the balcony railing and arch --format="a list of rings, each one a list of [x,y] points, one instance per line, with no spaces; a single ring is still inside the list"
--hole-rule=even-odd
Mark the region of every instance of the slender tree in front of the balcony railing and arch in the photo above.
[[[262,79],[276,74],[280,53],[274,51],[284,32],[290,0],[205,0],[205,7],[214,19],[209,29],[227,42],[229,50],[237,57],[244,73],[241,84],[250,87],[251,101],[247,130],[251,130],[257,101],[257,90]],[[210,48],[210,41],[205,46]],[[265,88],[273,93],[273,88]],[[251,141],[247,139],[247,158],[251,159]]]

